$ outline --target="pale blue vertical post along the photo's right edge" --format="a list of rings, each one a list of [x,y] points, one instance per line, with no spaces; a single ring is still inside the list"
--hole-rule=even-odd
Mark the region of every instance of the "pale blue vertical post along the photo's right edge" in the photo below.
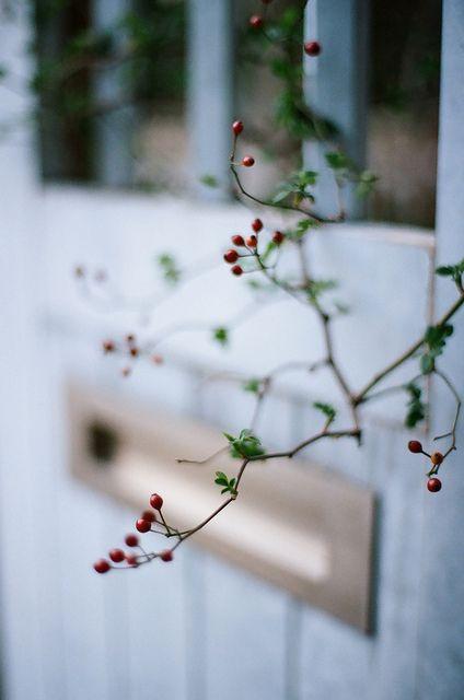
[[[442,24],[442,68],[438,168],[438,262],[457,262],[464,257],[462,222],[464,199],[464,4],[444,0]],[[438,280],[437,314],[455,298],[449,280]],[[440,366],[464,394],[464,317],[455,323],[455,334]],[[432,395],[432,434],[451,424],[453,399],[438,384]],[[427,494],[425,504],[425,581],[418,644],[417,697],[424,700],[457,698],[464,688],[464,479],[462,448],[464,425],[457,431],[459,452],[450,455],[440,476],[443,488]]]

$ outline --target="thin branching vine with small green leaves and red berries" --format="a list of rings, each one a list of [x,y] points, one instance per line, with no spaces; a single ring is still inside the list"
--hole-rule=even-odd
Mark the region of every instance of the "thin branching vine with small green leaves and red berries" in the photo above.
[[[361,388],[353,388],[343,370],[339,349],[336,347],[334,338],[334,325],[340,314],[347,313],[347,308],[343,303],[334,302],[329,294],[337,287],[337,282],[317,277],[310,268],[306,247],[314,232],[321,226],[345,220],[344,192],[347,186],[355,185],[358,196],[367,196],[375,185],[375,176],[369,171],[358,168],[340,147],[333,145],[337,140],[336,127],[323,117],[315,115],[304,103],[301,89],[302,68],[301,65],[295,66],[292,60],[295,45],[300,55],[304,51],[309,60],[317,60],[323,47],[314,37],[301,38],[301,12],[287,12],[280,20],[271,21],[268,19],[266,11],[270,2],[271,0],[262,0],[263,13],[252,15],[248,32],[255,35],[256,42],[260,47],[264,47],[265,52],[269,50],[268,65],[272,72],[282,80],[283,89],[277,105],[276,121],[293,138],[312,138],[316,139],[322,147],[327,145],[325,163],[332,172],[337,196],[333,213],[322,214],[317,210],[315,194],[320,173],[304,167],[290,173],[277,191],[268,198],[248,191],[243,183],[242,173],[243,168],[257,166],[256,158],[253,153],[243,152],[241,147],[241,137],[245,132],[246,125],[240,119],[233,121],[229,162],[232,184],[237,198],[248,202],[252,207],[258,207],[259,212],[263,212],[260,213],[263,219],[255,218],[251,222],[248,232],[231,235],[229,247],[223,254],[223,260],[224,266],[229,267],[230,273],[236,278],[244,276],[255,292],[276,290],[303,305],[309,313],[314,314],[318,319],[324,351],[316,362],[304,363],[287,360],[266,375],[247,376],[244,374],[232,377],[242,385],[245,392],[255,397],[255,409],[250,423],[239,434],[224,433],[223,435],[223,450],[230,453],[237,466],[234,474],[225,474],[220,470],[214,472],[213,481],[218,487],[218,495],[223,497],[218,508],[194,527],[179,530],[175,524],[167,522],[163,512],[163,499],[169,498],[169,494],[163,497],[158,493],[151,494],[148,499],[149,508],[136,522],[136,529],[139,534],[131,533],[125,538],[125,544],[130,551],[126,552],[120,548],[112,549],[107,559],[100,559],[95,562],[94,569],[98,573],[105,573],[109,569],[137,568],[154,559],[171,561],[175,550],[185,540],[206,527],[240,497],[243,476],[253,462],[292,458],[306,447],[322,441],[352,440],[361,445],[364,427],[360,408],[370,401],[382,399],[382,397],[394,393],[403,393],[406,400],[405,424],[409,429],[416,428],[427,418],[428,407],[424,401],[424,383],[427,377],[433,376],[441,382],[455,405],[452,424],[443,434],[431,440],[432,446],[424,447],[417,439],[410,440],[407,445],[411,453],[420,455],[425,459],[427,465],[426,486],[429,492],[436,493],[441,490],[440,469],[445,459],[456,450],[456,425],[461,412],[461,397],[452,377],[442,371],[440,361],[446,349],[446,343],[453,335],[454,317],[464,304],[464,260],[450,261],[449,265],[437,269],[437,275],[448,278],[455,288],[455,299],[450,307],[433,325],[425,328],[424,332],[397,358],[367,380]],[[134,15],[126,18],[126,28],[131,32],[132,42],[129,46],[130,50],[118,49],[121,51],[118,54],[118,61],[129,63],[135,61],[135,66],[140,65],[144,70],[147,65],[143,61],[149,60],[148,57],[152,54],[150,42],[153,37],[144,31],[143,25]],[[162,37],[158,38],[162,40]],[[114,57],[112,58],[109,55],[108,47],[111,45],[111,37],[107,37],[106,43],[102,45],[97,42],[97,37],[91,36],[88,36],[86,42],[81,45],[74,43],[68,54],[71,68],[67,69],[63,63],[60,67],[61,72],[68,75],[71,69],[72,72],[79,72],[81,68],[88,68],[89,61],[114,60]],[[84,62],[82,62],[82,57],[85,58]],[[40,82],[39,75],[37,75],[35,88],[40,90],[45,84],[44,81],[44,77]],[[45,97],[44,104],[46,104]],[[330,147],[328,147],[328,140]],[[202,179],[206,184],[216,185],[213,178],[204,177]],[[272,212],[276,210],[283,213],[291,212],[293,223],[281,230],[274,229]],[[298,264],[291,275],[281,272],[279,267],[282,250],[287,247],[292,247],[297,252]],[[158,258],[158,266],[170,288],[169,294],[175,293],[178,287],[187,284],[193,277],[199,273],[198,270],[184,270],[170,253],[164,253]],[[76,277],[82,292],[89,298],[92,294],[92,276],[83,266],[80,266],[76,269]],[[104,290],[107,282],[104,272],[101,271],[97,275],[97,282],[101,290]],[[106,301],[109,304],[112,302],[118,303],[117,299],[112,299],[109,292]],[[152,299],[150,304],[153,307],[162,301],[163,298]],[[242,313],[237,314],[236,323],[240,323],[242,316]],[[212,327],[209,325],[205,327],[205,324],[199,326],[198,324],[179,323],[165,329],[159,329],[155,337],[143,343],[139,342],[134,334],[123,338],[106,339],[103,341],[103,351],[106,354],[124,358],[125,364],[121,368],[121,373],[124,376],[129,376],[134,363],[143,359],[156,365],[162,364],[164,358],[158,346],[172,335],[190,329],[207,330],[210,332],[212,341],[224,347],[229,343],[230,332],[234,325],[234,319],[228,324]],[[410,365],[414,365],[411,376],[402,384],[388,384],[386,381],[409,361],[413,361]],[[346,423],[339,421],[338,412],[334,406],[316,401],[313,407],[320,416],[317,429],[298,444],[271,452],[266,448],[257,434],[256,425],[259,413],[266,398],[272,390],[276,378],[283,373],[301,371],[327,372],[333,376],[348,408],[349,420]],[[440,446],[440,450],[437,446]],[[211,455],[201,462],[212,463],[214,457],[216,455]],[[178,462],[188,460],[179,456]],[[146,533],[163,536],[170,546],[153,551],[146,549],[140,539],[140,534]]]

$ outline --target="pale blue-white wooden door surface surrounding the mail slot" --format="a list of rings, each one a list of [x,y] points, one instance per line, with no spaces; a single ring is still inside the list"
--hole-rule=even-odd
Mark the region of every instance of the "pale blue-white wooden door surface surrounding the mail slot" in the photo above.
[[[437,243],[439,260],[448,262],[462,257],[464,247],[464,131],[459,118],[464,110],[464,10],[459,0],[444,5]],[[1,33],[1,51],[18,55],[18,68],[26,72],[21,58],[25,18],[14,27],[2,25]],[[2,94],[4,114],[23,108],[23,97]],[[5,698],[457,698],[463,684],[463,629],[455,612],[464,602],[461,453],[446,464],[440,499],[431,500],[420,468],[405,451],[408,438],[395,402],[367,416],[361,451],[336,444],[311,455],[370,485],[379,495],[374,634],[362,635],[303,606],[194,544],[170,568],[147,567],[134,576],[92,575],[89,564],[115,534],[130,527],[134,514],[70,479],[66,380],[72,375],[109,385],[230,430],[241,427],[250,404],[239,394],[199,394],[195,372],[175,363],[155,374],[140,369],[124,383],[117,366],[102,360],[97,342],[130,329],[132,316],[89,310],[71,271],[76,264],[103,266],[117,284],[141,293],[152,285],[154,254],[169,248],[187,259],[195,242],[198,258],[205,252],[219,257],[231,231],[247,225],[251,214],[231,203],[43,188],[30,136],[22,132],[0,149]],[[322,275],[343,277],[353,307],[337,327],[337,342],[346,351],[350,381],[361,385],[428,320],[433,235],[347,224],[324,233],[313,248]],[[446,295],[440,283],[437,312]],[[160,310],[156,323],[184,317],[186,311],[192,319],[222,318],[224,308],[231,317],[246,300],[243,288],[237,291],[236,280],[224,279],[219,265]],[[252,372],[277,364],[282,355],[306,359],[310,349],[317,359],[320,353],[313,322],[292,304],[265,311],[242,330],[227,355],[201,335],[177,337],[172,352],[211,366],[246,363]],[[462,341],[460,330],[446,362],[464,389]],[[311,398],[322,396],[338,400],[335,387],[315,381]],[[452,410],[448,397],[437,394],[433,424],[448,424]],[[263,438],[293,442],[311,420],[309,409],[275,399]],[[462,429],[460,438],[464,442]],[[224,600],[233,614],[224,614]]]

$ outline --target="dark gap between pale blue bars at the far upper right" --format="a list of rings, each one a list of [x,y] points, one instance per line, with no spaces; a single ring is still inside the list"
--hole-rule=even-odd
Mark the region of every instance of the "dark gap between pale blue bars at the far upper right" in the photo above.
[[[371,215],[433,226],[441,3],[372,0],[371,18]]]

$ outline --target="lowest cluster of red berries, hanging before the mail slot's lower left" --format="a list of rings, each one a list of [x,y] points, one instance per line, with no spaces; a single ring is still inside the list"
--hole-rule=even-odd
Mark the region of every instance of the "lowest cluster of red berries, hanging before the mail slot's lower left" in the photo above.
[[[154,511],[161,512],[163,505],[163,499],[158,493],[152,493],[150,497],[150,505]],[[139,533],[149,533],[151,530],[152,523],[156,523],[156,514],[152,510],[143,511],[140,515],[139,520],[136,522],[136,529]],[[125,540],[127,547],[139,547],[139,537],[135,533],[129,533],[126,535]],[[141,549],[141,548],[140,548]],[[108,559],[98,559],[93,564],[96,573],[106,573],[109,569],[121,569],[121,568],[135,568],[139,567],[141,563],[149,561],[150,559],[154,559],[158,556],[162,561],[172,561],[174,558],[172,549],[164,549],[159,555],[149,557],[141,550],[142,553],[137,556],[132,552],[125,552],[123,549],[111,549],[108,552]],[[115,567],[114,564],[125,563],[126,567]]]

